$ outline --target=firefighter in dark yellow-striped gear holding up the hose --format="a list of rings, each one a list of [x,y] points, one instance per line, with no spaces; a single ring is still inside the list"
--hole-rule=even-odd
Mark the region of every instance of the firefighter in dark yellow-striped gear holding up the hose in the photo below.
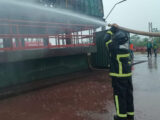
[[[129,33],[114,27],[107,31],[104,42],[109,52],[110,76],[116,107],[114,120],[134,120]]]

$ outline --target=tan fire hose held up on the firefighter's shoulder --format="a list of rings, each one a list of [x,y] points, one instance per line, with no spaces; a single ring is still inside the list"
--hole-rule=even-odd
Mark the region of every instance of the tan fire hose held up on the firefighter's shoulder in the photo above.
[[[138,34],[138,35],[144,35],[144,36],[150,36],[150,37],[160,37],[160,32],[155,33],[155,32],[145,32],[145,31],[133,30],[130,28],[125,28],[125,27],[119,26],[117,24],[108,24],[108,26],[109,27],[114,26],[118,29],[130,32],[130,33]]]

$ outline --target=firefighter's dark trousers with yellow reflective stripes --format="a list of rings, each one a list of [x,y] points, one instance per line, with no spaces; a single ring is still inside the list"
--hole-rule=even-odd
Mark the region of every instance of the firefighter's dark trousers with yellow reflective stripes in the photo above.
[[[119,120],[134,119],[132,77],[112,77],[112,87]]]

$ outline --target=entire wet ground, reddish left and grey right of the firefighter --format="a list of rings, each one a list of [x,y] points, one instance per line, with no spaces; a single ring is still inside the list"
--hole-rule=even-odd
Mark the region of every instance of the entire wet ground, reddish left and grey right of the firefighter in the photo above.
[[[159,120],[160,57],[136,54],[133,68],[136,120]],[[115,113],[107,71],[0,100],[0,120],[112,120]]]

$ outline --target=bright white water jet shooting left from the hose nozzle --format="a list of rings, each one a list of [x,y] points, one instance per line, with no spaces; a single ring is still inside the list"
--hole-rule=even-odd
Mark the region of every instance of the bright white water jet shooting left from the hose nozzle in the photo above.
[[[21,6],[21,7],[27,7],[28,9],[34,9],[34,10],[47,12],[47,13],[50,12],[51,16],[53,13],[56,13],[56,14],[60,14],[62,16],[68,16],[68,18],[71,17],[72,19],[83,20],[83,21],[90,22],[90,23],[93,23],[96,25],[106,26],[106,23],[102,20],[98,20],[93,17],[89,17],[87,15],[78,14],[78,13],[75,13],[75,12],[72,12],[72,11],[69,11],[66,9],[49,8],[49,7],[40,6],[40,5],[38,5],[34,2],[31,2],[31,1],[28,2],[28,1],[21,1],[21,0],[11,0],[11,1],[10,0],[0,0],[0,4],[2,4],[2,3]]]

